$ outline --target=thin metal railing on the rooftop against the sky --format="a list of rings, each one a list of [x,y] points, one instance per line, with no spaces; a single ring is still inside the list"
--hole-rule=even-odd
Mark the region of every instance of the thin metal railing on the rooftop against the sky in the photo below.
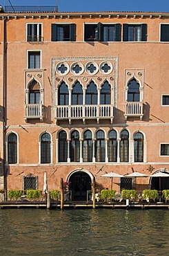
[[[57,6],[5,6],[5,12],[57,12]]]

